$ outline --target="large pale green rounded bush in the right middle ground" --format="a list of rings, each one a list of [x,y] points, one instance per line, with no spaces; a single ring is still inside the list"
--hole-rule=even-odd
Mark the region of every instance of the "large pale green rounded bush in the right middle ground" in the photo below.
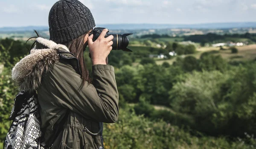
[[[178,82],[169,92],[172,108],[177,112],[191,115],[196,121],[198,131],[209,135],[220,133],[211,120],[213,113],[218,111],[220,88],[227,81],[228,74],[204,71],[186,76],[185,82]]]

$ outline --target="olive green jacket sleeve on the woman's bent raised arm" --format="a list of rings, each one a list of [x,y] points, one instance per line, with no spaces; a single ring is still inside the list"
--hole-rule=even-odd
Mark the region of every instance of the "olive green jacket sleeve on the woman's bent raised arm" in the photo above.
[[[93,83],[81,86],[81,76],[68,62],[56,62],[49,71],[49,84],[54,103],[104,123],[118,119],[118,91],[114,68],[111,65],[93,65]]]

